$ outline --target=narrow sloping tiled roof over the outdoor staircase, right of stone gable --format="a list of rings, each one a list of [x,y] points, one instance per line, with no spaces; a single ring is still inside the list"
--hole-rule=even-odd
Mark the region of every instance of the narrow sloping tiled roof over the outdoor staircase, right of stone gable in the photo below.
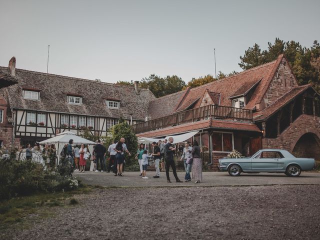
[[[289,92],[281,96],[278,100],[264,108],[262,111],[254,112],[253,120],[257,121],[269,118],[271,115],[273,115],[273,113],[280,110],[282,106],[286,105],[289,101],[291,101],[293,98],[304,92],[307,88],[312,87],[311,85],[306,84],[292,88]]]

